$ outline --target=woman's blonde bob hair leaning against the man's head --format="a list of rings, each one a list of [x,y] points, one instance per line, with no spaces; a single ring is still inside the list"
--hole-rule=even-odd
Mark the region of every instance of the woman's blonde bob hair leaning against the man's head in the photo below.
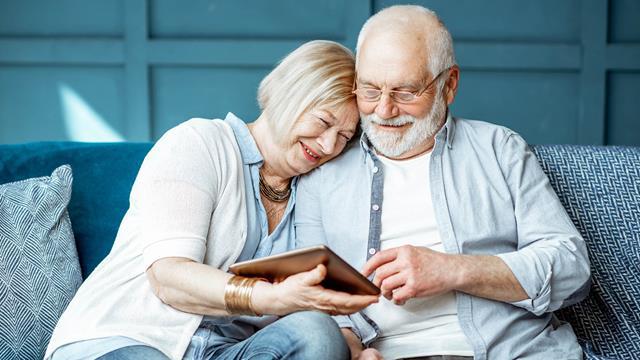
[[[282,59],[258,88],[258,104],[276,142],[286,141],[305,112],[352,101],[354,79],[353,53],[333,41],[309,41]]]

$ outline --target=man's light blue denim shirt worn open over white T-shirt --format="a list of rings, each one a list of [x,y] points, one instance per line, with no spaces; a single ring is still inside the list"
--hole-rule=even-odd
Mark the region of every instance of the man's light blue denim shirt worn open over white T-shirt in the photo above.
[[[581,359],[571,326],[552,312],[586,297],[589,259],[537,159],[518,134],[481,121],[448,116],[435,140],[425,186],[445,251],[499,256],[529,296],[505,303],[456,292],[475,358]],[[363,134],[300,180],[296,246],[326,244],[361,269],[380,249],[383,188],[384,165]],[[363,313],[336,321],[365,345],[379,336]]]

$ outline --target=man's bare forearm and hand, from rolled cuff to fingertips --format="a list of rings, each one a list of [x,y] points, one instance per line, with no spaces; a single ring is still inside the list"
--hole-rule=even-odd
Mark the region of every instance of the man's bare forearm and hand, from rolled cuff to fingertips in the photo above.
[[[384,297],[398,305],[414,297],[452,290],[504,302],[528,298],[509,267],[497,256],[445,254],[405,245],[380,251],[369,259],[362,273],[368,277],[374,271],[373,283]]]

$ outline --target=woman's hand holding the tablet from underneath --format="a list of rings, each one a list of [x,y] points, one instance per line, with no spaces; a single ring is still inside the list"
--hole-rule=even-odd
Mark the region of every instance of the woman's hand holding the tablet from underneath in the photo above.
[[[286,315],[301,310],[317,310],[330,315],[353,314],[378,302],[374,295],[352,295],[320,285],[327,274],[324,265],[289,276],[277,284],[259,282],[251,302],[259,314]]]

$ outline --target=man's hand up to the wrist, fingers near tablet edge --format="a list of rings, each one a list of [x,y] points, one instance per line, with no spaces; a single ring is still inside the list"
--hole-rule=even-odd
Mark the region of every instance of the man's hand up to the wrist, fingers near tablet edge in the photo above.
[[[362,273],[368,277],[375,271],[373,283],[382,295],[403,305],[414,297],[454,290],[459,270],[453,255],[405,245],[380,251],[367,261]]]

